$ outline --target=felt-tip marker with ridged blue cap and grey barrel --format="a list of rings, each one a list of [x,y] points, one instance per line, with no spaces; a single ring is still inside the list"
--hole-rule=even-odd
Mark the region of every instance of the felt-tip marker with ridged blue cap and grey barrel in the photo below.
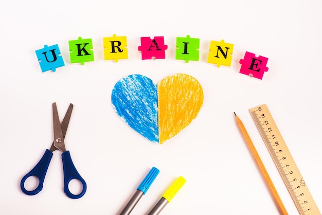
[[[141,199],[142,195],[146,194],[149,187],[155,180],[156,176],[159,174],[159,170],[155,167],[153,167],[147,176],[144,178],[144,180],[141,182],[141,184],[136,189],[136,192],[130,199],[129,203],[124,207],[120,215],[128,215],[131,213],[135,205],[138,203],[138,201]]]

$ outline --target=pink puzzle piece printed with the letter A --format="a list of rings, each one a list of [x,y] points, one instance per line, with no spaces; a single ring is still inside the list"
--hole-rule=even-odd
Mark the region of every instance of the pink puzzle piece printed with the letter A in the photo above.
[[[166,50],[168,46],[165,45],[164,37],[149,37],[141,38],[141,46],[138,50],[141,51],[142,60],[148,59],[165,59]]]

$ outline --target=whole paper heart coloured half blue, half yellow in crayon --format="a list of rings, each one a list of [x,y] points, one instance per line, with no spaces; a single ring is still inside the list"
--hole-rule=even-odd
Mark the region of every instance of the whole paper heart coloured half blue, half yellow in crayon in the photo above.
[[[203,104],[203,90],[192,76],[175,74],[155,84],[142,75],[119,80],[112,90],[116,113],[152,142],[163,144],[190,124]]]

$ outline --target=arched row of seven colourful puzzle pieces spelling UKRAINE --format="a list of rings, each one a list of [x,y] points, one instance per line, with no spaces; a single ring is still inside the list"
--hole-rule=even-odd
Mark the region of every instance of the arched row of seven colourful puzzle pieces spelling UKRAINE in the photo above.
[[[168,46],[165,45],[164,37],[141,37],[141,45],[138,46],[138,51],[141,52],[142,60],[149,59],[165,59]],[[81,63],[94,61],[94,51],[92,39],[82,39],[68,41],[70,63]],[[120,59],[128,59],[127,37],[103,38],[104,60],[114,60],[118,62]],[[199,38],[190,38],[189,35],[185,38],[176,38],[175,59],[189,61],[199,61]],[[210,41],[207,63],[230,66],[232,59],[232,51],[234,44],[226,43],[224,40]],[[47,46],[35,51],[42,72],[52,70],[65,65],[61,56],[58,45]],[[269,59],[263,56],[258,56],[254,53],[245,52],[244,59],[240,59],[241,64],[239,73],[262,79],[264,72],[269,68],[266,66]]]

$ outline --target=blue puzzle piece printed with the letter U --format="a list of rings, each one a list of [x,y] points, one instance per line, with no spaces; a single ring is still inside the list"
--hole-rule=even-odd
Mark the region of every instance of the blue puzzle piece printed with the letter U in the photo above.
[[[44,48],[35,50],[35,53],[43,73],[50,69],[55,73],[56,68],[65,65],[57,44],[52,46],[45,45]]]

